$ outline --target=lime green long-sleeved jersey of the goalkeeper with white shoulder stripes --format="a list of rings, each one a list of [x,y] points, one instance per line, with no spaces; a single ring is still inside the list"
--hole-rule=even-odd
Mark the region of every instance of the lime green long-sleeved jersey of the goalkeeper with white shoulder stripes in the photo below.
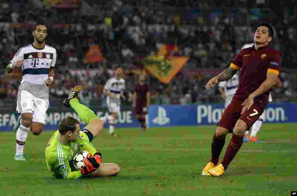
[[[80,131],[78,139],[68,145],[61,144],[58,140],[59,130],[50,138],[45,149],[46,164],[54,178],[76,179],[82,175],[72,167],[72,159],[79,151],[88,151],[95,154],[97,151],[89,142],[88,136]]]

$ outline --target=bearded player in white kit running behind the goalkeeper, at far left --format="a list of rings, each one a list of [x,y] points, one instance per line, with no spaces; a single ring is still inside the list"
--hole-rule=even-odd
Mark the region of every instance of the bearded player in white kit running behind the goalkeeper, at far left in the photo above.
[[[47,27],[38,24],[33,30],[34,42],[20,48],[7,66],[6,78],[14,78],[10,73],[19,68],[22,78],[19,86],[16,110],[20,113],[20,125],[16,131],[15,160],[25,161],[23,149],[31,130],[33,135],[40,135],[45,124],[49,106],[49,87],[53,85],[56,49],[45,45]]]

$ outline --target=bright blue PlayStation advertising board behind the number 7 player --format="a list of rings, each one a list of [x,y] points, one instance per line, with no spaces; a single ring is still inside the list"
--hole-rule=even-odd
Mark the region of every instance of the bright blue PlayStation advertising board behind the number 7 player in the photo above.
[[[268,104],[264,111],[264,122],[297,122],[297,104]],[[217,125],[224,111],[223,104],[202,105],[151,105],[149,127]]]

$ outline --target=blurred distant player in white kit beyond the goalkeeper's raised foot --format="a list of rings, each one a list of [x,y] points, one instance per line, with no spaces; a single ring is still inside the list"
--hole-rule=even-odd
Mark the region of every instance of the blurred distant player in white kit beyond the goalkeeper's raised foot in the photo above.
[[[121,78],[122,68],[116,67],[115,77],[107,80],[103,93],[107,96],[107,108],[110,113],[109,120],[109,134],[116,136],[114,132],[114,126],[117,123],[119,112],[121,110],[121,97],[126,99],[124,96],[125,80]]]

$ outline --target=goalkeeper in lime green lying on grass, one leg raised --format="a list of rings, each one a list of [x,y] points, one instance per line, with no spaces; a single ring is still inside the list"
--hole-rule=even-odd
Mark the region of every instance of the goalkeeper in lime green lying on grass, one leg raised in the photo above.
[[[45,149],[46,164],[54,178],[77,179],[81,176],[115,176],[120,168],[115,163],[102,162],[102,156],[96,151],[91,141],[103,129],[103,121],[92,110],[78,102],[78,94],[82,88],[72,88],[64,105],[71,107],[87,126],[80,130],[79,121],[73,117],[63,119],[59,124],[59,130],[50,138]],[[88,151],[85,158],[85,167],[79,171],[72,165],[72,159],[79,151]]]

